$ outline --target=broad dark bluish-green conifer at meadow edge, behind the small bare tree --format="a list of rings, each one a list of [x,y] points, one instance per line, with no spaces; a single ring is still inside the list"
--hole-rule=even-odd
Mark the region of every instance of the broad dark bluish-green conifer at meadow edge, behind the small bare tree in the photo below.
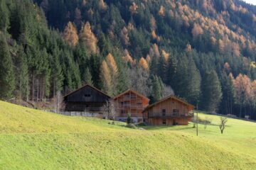
[[[214,70],[203,75],[201,87],[201,108],[205,111],[217,112],[222,92],[218,75]]]

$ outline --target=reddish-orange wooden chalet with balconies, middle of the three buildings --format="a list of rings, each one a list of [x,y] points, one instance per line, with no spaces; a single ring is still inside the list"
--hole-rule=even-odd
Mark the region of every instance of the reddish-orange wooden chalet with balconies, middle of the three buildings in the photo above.
[[[113,98],[117,111],[116,120],[125,122],[131,114],[134,123],[143,122],[143,111],[149,106],[149,98],[137,91],[127,90]]]

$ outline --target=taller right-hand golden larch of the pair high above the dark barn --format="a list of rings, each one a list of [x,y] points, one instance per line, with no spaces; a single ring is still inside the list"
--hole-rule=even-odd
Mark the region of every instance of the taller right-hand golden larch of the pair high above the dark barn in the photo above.
[[[79,34],[80,41],[87,46],[87,50],[90,53],[97,53],[97,38],[95,37],[94,33],[92,33],[91,26],[89,22],[86,22],[84,26],[82,26],[80,34]]]

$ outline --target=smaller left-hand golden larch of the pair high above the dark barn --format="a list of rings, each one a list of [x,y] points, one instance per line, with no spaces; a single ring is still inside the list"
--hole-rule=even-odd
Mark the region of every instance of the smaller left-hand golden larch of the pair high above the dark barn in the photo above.
[[[78,31],[75,26],[73,26],[73,23],[68,22],[68,26],[65,27],[63,33],[63,39],[68,43],[68,45],[75,46],[78,44]]]

